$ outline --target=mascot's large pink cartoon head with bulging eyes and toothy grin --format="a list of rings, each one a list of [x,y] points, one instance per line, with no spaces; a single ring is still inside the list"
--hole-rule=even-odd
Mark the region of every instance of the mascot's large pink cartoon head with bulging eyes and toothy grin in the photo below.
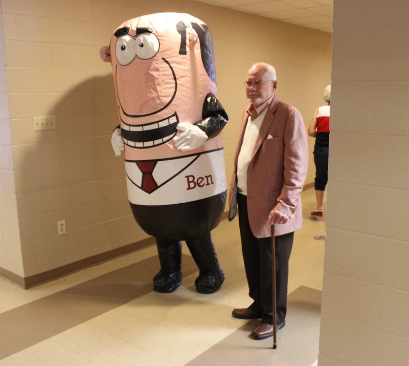
[[[101,56],[112,63],[125,160],[184,155],[173,143],[176,125],[201,120],[206,95],[216,94],[207,26],[180,13],[130,19],[115,30]],[[221,138],[198,152],[217,147]]]

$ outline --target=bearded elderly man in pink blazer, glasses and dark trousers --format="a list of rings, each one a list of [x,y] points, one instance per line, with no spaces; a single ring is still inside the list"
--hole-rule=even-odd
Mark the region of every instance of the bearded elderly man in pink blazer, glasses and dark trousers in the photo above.
[[[307,175],[308,144],[303,118],[274,92],[274,67],[256,63],[247,72],[246,95],[230,186],[229,220],[238,206],[244,267],[253,303],[234,309],[236,318],[261,318],[253,331],[272,336],[271,224],[276,224],[277,329],[285,325],[288,261],[294,231],[302,226],[301,192]]]

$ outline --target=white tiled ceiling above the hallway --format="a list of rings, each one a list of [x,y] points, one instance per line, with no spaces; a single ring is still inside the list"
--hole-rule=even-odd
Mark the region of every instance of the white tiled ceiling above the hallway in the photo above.
[[[332,32],[332,0],[198,0],[287,23]]]

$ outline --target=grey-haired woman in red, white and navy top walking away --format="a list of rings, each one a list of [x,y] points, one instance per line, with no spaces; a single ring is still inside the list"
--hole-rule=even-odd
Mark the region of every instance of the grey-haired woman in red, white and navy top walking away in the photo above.
[[[311,212],[313,217],[323,217],[323,200],[325,186],[328,182],[328,151],[329,151],[329,112],[331,103],[331,84],[324,90],[326,105],[318,107],[312,116],[308,127],[308,135],[315,137],[315,198],[316,210]]]

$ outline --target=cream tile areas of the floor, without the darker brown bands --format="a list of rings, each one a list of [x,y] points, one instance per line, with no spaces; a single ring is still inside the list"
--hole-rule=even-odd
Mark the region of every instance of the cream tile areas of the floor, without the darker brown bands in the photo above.
[[[325,235],[325,221],[309,216],[315,208],[314,190],[303,192],[302,198],[304,223],[303,229],[295,234],[289,292],[299,286],[322,290],[325,242],[314,237]],[[223,286],[216,293],[196,293],[197,273],[193,273],[184,277],[183,284],[172,294],[150,292],[3,358],[0,366],[186,364],[244,325],[246,320],[232,318],[231,311],[251,303],[237,219],[222,221],[212,236],[226,274]],[[183,251],[188,254],[185,244]],[[155,255],[156,248],[152,246],[29,290],[0,279],[0,313]]]

